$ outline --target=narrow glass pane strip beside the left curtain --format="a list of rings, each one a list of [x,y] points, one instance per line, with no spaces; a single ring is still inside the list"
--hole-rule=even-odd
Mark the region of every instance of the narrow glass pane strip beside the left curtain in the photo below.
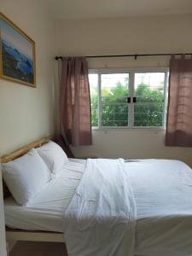
[[[98,74],[89,74],[91,125],[98,126]]]

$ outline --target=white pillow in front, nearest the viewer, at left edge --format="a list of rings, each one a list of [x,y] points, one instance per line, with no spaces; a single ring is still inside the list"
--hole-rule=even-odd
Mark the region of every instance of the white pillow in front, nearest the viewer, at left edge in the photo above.
[[[2,166],[3,179],[20,205],[26,205],[50,179],[49,169],[35,149]]]

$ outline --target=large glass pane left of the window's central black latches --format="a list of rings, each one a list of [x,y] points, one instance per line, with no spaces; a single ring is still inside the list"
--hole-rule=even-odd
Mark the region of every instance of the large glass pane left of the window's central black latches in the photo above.
[[[102,126],[127,126],[129,73],[102,73]]]

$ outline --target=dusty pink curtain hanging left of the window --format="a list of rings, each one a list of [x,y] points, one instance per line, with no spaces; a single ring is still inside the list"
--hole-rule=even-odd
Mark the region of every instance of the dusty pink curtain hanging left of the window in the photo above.
[[[65,143],[72,146],[92,143],[90,86],[84,57],[62,60],[60,120]]]

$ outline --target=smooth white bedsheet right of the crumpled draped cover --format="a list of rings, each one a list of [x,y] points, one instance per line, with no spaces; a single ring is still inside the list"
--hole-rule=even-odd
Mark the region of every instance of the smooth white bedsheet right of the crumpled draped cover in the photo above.
[[[192,170],[177,160],[127,164],[137,204],[136,253],[192,255]]]

